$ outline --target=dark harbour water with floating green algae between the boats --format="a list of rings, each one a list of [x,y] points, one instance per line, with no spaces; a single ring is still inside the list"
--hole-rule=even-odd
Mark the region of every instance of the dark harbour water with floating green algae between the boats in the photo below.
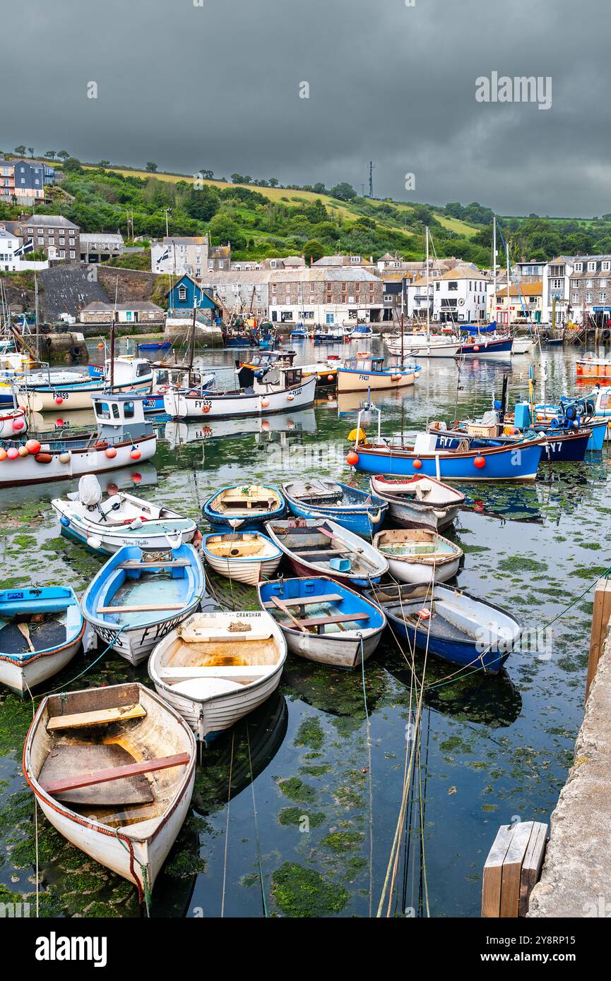
[[[298,360],[315,360],[318,350],[304,346]],[[199,360],[231,367],[234,354],[204,352]],[[572,392],[575,355],[555,349],[544,357],[548,396]],[[427,421],[480,413],[500,390],[503,372],[513,404],[527,390],[529,363],[472,362],[460,377],[453,361],[432,364],[403,396],[378,396],[383,431],[414,433]],[[364,487],[366,478],[352,478],[345,464],[358,407],[357,395],[339,404],[328,397],[251,430],[244,421],[216,432],[160,421],[154,460],[112,480],[137,483],[139,495],[163,500],[199,524],[200,505],[212,490],[245,479],[279,485],[329,476]],[[71,424],[82,421],[89,420]],[[363,422],[372,432],[375,413]],[[0,494],[3,588],[66,583],[83,594],[101,559],[59,537],[50,500],[67,490],[75,487]],[[531,485],[461,490],[471,510],[461,512],[449,536],[466,553],[458,585],[514,610],[527,634],[494,678],[457,678],[448,664],[429,659],[417,765],[383,915],[478,915],[482,864],[499,824],[517,816],[548,819],[583,713],[586,590],[611,564],[606,450],[584,465],[543,466]],[[250,587],[214,575],[210,587],[229,608],[257,607]],[[100,653],[79,654],[45,689],[134,679],[150,685],[145,664],[133,668]],[[418,655],[418,676],[421,670]],[[278,693],[202,752],[192,808],[155,883],[151,915],[375,915],[415,709],[407,651],[388,635],[364,676],[289,656]],[[36,902],[34,804],[21,768],[31,717],[29,699],[0,694],[3,903]],[[40,915],[140,914],[135,888],[69,845],[40,813],[37,853]]]

